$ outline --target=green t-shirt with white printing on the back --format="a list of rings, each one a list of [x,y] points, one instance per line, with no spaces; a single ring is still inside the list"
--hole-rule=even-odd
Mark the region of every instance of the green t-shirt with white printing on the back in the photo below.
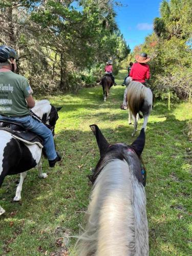
[[[25,98],[33,93],[27,79],[12,71],[0,72],[0,115],[25,116],[30,111]]]

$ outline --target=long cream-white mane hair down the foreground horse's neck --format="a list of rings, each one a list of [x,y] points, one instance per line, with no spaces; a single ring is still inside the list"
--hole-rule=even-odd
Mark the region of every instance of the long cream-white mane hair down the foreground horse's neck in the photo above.
[[[135,255],[130,176],[128,164],[119,159],[102,169],[92,190],[87,227],[76,243],[76,255],[114,255],[115,251],[121,256]]]

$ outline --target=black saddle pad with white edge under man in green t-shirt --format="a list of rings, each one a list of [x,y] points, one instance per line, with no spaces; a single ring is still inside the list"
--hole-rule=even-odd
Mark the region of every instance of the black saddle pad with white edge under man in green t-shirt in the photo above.
[[[10,133],[13,138],[23,141],[28,145],[37,144],[40,148],[44,147],[44,140],[35,133],[28,131],[18,122],[7,122],[0,120],[0,130]]]

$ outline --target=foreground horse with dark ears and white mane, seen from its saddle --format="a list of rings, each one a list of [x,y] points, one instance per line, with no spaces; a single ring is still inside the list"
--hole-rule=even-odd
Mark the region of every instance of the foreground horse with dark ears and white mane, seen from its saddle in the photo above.
[[[87,226],[78,237],[78,256],[148,255],[146,173],[140,159],[144,129],[127,146],[110,145],[97,125],[90,125],[100,151],[96,165]]]

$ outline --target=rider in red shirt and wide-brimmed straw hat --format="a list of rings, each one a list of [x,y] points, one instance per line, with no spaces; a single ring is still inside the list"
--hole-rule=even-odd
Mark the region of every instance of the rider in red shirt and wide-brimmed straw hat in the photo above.
[[[136,63],[132,66],[130,77],[132,77],[132,81],[138,81],[144,85],[145,79],[150,79],[150,67],[146,64],[146,62],[150,61],[150,57],[147,57],[146,53],[141,53],[140,55],[137,54],[135,56]],[[127,84],[128,85],[128,84]],[[127,109],[127,88],[124,91],[124,98],[123,104],[120,106],[120,109],[126,110]]]

